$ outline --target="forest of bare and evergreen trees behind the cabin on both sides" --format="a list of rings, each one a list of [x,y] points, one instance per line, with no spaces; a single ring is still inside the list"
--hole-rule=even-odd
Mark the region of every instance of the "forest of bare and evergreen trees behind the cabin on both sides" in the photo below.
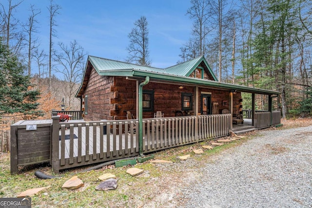
[[[21,0],[0,2],[1,43],[25,66],[24,75],[31,79],[40,92],[39,118],[49,118],[52,109],[60,109],[64,98],[67,110],[79,109],[75,98],[83,75],[86,54],[78,42],[62,42],[57,38],[55,18],[61,6],[47,1],[44,11],[48,19],[39,19],[43,12],[36,5],[20,8]],[[193,21],[190,38],[180,48],[177,63],[204,55],[219,81],[255,88],[276,90],[281,95],[275,107],[286,116],[310,116],[312,110],[312,2],[310,0],[191,0],[185,11]],[[16,19],[19,10],[28,10],[25,19]],[[148,19],[141,17],[129,31],[132,38],[139,36],[136,28],[143,28],[148,40]],[[49,48],[40,48],[39,23],[49,24]],[[75,38],[75,37],[73,37]],[[58,43],[57,43],[58,42]],[[142,53],[148,56],[148,41]],[[126,59],[126,57],[125,57]],[[150,60],[148,57],[138,57]],[[128,60],[131,60],[128,57]],[[153,65],[151,61],[140,62]],[[36,69],[36,72],[33,73]],[[56,76],[58,74],[58,76]],[[251,108],[251,95],[243,95],[244,109]],[[257,96],[257,109],[267,107],[267,99]],[[1,113],[3,131],[20,119],[29,119],[31,113]],[[5,122],[5,120],[9,122]],[[3,138],[3,136],[2,136]]]

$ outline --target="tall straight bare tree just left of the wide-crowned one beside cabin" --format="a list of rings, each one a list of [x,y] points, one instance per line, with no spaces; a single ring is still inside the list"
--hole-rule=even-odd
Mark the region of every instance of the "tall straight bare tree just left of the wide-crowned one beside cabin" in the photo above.
[[[53,4],[53,0],[50,0],[50,6],[47,7],[50,12],[50,46],[49,46],[49,91],[51,92],[52,83],[51,83],[51,71],[52,71],[52,53],[53,53],[53,41],[52,36],[56,36],[54,27],[57,26],[54,18],[59,15],[59,9],[61,7],[58,4]]]

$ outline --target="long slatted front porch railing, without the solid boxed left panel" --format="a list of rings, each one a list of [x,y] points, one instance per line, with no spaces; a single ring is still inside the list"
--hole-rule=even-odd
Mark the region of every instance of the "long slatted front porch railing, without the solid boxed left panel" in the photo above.
[[[52,119],[51,164],[56,172],[139,154],[138,120]],[[143,153],[228,135],[230,122],[231,114],[143,119]]]

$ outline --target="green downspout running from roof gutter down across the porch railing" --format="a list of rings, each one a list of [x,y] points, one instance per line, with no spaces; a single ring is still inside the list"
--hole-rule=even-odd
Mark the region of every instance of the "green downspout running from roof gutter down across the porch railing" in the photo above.
[[[145,81],[141,82],[138,86],[138,151],[139,155],[143,156],[143,86],[147,85],[150,77],[146,76]]]

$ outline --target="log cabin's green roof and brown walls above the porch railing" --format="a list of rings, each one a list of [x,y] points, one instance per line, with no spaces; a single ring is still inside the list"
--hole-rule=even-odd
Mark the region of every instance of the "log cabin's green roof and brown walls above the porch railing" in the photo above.
[[[269,95],[269,111],[280,94],[218,82],[203,56],[165,69],[89,56],[76,97],[86,121],[126,119],[128,111],[135,118],[226,112],[235,119],[242,114],[241,92]]]

